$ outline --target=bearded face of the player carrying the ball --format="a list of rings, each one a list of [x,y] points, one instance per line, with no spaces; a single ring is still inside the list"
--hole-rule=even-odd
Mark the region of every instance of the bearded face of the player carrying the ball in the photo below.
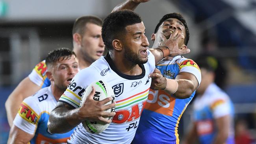
[[[148,39],[145,36],[143,22],[126,26],[124,37],[124,57],[134,64],[143,64],[148,61]]]

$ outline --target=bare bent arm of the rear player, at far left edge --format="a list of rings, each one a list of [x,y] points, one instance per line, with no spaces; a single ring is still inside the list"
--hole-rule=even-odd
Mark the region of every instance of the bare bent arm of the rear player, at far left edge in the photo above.
[[[10,127],[13,125],[13,120],[19,110],[20,103],[28,96],[35,94],[39,89],[41,89],[41,87],[26,77],[9,95],[6,100],[5,107]]]

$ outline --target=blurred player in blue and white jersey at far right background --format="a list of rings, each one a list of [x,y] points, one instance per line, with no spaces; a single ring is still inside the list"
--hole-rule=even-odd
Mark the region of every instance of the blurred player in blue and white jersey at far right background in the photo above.
[[[193,126],[185,144],[199,138],[201,144],[234,144],[234,108],[228,95],[215,83],[217,60],[200,56],[197,60],[202,81],[193,103]]]

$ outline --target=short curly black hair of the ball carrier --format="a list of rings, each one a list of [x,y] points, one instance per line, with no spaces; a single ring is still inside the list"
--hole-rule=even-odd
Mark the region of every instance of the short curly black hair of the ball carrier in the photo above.
[[[110,13],[102,25],[102,39],[108,50],[113,50],[112,41],[126,34],[126,26],[141,23],[141,17],[131,10]]]

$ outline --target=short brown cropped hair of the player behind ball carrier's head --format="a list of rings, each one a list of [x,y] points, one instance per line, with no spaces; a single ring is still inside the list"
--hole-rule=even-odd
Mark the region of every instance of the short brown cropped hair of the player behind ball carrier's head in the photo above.
[[[79,17],[75,20],[72,30],[72,35],[74,33],[79,33],[80,35],[83,35],[85,31],[85,25],[87,23],[96,24],[98,26],[102,26],[102,19],[93,15],[83,16]]]

